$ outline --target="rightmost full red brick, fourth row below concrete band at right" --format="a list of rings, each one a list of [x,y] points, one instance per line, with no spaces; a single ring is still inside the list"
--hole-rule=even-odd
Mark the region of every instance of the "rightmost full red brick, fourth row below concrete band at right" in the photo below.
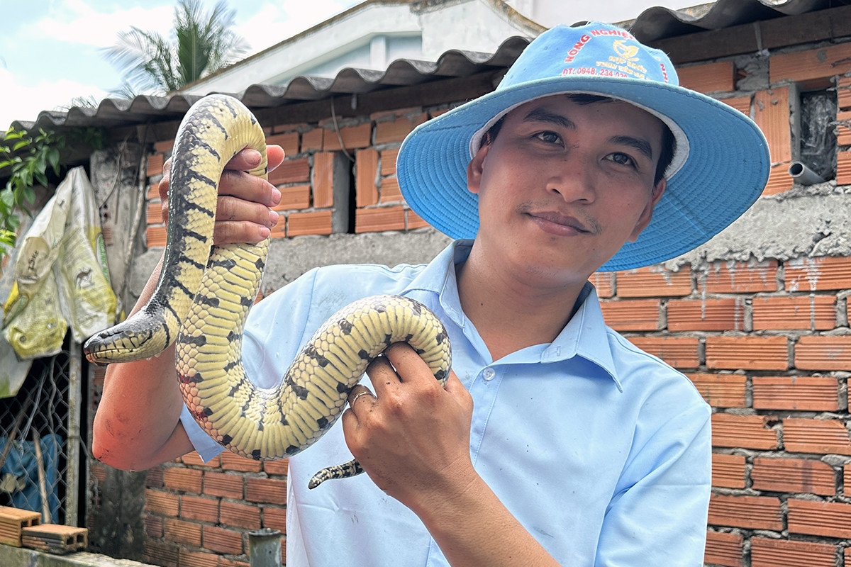
[[[837,411],[836,378],[810,376],[755,376],[753,406],[757,410]]]

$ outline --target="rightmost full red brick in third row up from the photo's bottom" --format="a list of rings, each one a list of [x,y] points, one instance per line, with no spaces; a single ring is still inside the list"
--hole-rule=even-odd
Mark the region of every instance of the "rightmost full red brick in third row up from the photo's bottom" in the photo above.
[[[826,462],[813,459],[779,459],[757,456],[751,468],[754,490],[797,492],[833,496],[836,472]]]

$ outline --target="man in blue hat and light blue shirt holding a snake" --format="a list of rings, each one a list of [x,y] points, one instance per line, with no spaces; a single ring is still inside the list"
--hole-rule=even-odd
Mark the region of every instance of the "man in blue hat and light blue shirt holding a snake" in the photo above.
[[[265,387],[329,315],[374,293],[426,303],[453,346],[445,388],[391,347],[351,390],[342,427],[290,459],[289,565],[702,563],[709,407],[604,325],[587,282],[700,245],[762,191],[756,126],[676,82],[665,54],[620,28],[546,31],[494,93],[400,150],[408,204],[460,240],[427,266],[312,270],[252,311],[243,362]],[[276,191],[238,173],[258,159],[243,152],[222,179],[217,241],[268,235]],[[104,462],[220,451],[179,419],[170,352],[109,369]],[[368,476],[306,489],[351,454]]]

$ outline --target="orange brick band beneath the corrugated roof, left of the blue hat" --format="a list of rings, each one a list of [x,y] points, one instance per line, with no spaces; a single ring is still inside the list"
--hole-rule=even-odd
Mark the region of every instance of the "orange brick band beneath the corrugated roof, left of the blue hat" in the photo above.
[[[334,202],[335,184],[349,184],[349,179],[334,179],[335,174],[340,175],[333,167],[335,154],[351,161],[355,196],[354,226],[346,227],[343,232],[425,227],[426,222],[407,207],[399,191],[396,156],[404,137],[429,116],[434,113],[430,115],[419,108],[401,109],[357,119],[265,128],[266,143],[280,145],[286,153],[283,164],[269,176],[271,183],[281,190],[281,203],[276,207],[280,221],[271,237],[329,235],[335,231],[332,223],[335,207],[350,207],[346,202]],[[157,183],[173,146],[174,140],[158,142],[147,161],[148,247],[165,246],[166,229]]]

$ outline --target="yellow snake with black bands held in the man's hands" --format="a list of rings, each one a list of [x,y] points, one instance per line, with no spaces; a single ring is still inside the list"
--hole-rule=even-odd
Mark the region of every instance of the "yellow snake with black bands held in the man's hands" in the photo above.
[[[293,456],[325,434],[367,366],[391,344],[411,345],[442,385],[452,353],[446,328],[424,304],[376,295],[331,315],[277,386],[254,385],[243,367],[243,330],[270,237],[213,244],[219,179],[244,148],[262,156],[248,173],[267,179],[266,135],[240,100],[211,94],[191,105],[174,138],[157,285],[134,314],[89,337],[83,352],[105,366],[151,358],[174,343],[180,393],[198,425],[227,450],[266,461]],[[359,473],[363,468],[352,459],[323,468],[308,486]]]

